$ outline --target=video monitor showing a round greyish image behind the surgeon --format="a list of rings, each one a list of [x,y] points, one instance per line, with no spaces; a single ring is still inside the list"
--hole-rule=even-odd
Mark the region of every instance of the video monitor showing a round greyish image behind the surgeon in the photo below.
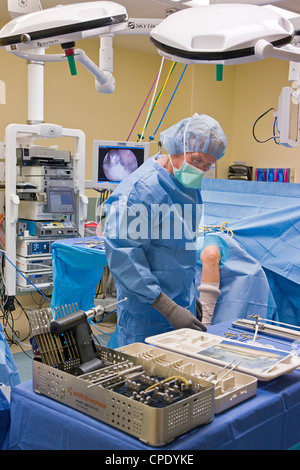
[[[95,140],[93,182],[119,183],[149,157],[149,143]]]

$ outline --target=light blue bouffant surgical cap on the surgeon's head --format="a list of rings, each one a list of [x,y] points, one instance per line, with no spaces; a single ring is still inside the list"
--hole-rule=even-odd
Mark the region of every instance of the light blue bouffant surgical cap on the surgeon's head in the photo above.
[[[160,134],[160,141],[171,155],[202,152],[217,160],[223,157],[227,139],[220,124],[206,114],[195,113]],[[185,145],[185,148],[184,148]]]

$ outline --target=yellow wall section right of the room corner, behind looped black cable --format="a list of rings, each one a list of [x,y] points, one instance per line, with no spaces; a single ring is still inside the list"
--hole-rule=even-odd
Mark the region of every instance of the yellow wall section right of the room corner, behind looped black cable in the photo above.
[[[224,70],[226,80],[227,68]],[[288,80],[289,62],[266,59],[235,66],[232,162],[246,161],[255,168],[294,168],[295,182],[300,182],[300,148],[286,148],[274,140],[258,143],[252,135],[256,119],[270,108],[278,109],[278,99]],[[273,111],[255,127],[258,140],[273,136]]]

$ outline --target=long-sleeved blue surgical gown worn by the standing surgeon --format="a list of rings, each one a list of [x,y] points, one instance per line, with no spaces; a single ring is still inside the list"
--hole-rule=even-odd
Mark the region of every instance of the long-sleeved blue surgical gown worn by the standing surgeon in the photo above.
[[[152,307],[161,292],[195,314],[199,190],[185,188],[152,157],[107,200],[105,251],[118,300],[118,345],[172,329]]]

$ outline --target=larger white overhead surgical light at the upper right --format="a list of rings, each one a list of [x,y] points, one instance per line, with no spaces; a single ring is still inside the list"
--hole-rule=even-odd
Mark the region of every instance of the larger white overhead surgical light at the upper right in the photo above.
[[[186,8],[165,18],[150,38],[160,55],[188,64],[240,64],[265,57],[300,61],[300,50],[291,45],[300,25],[295,30],[277,10],[250,4]]]

